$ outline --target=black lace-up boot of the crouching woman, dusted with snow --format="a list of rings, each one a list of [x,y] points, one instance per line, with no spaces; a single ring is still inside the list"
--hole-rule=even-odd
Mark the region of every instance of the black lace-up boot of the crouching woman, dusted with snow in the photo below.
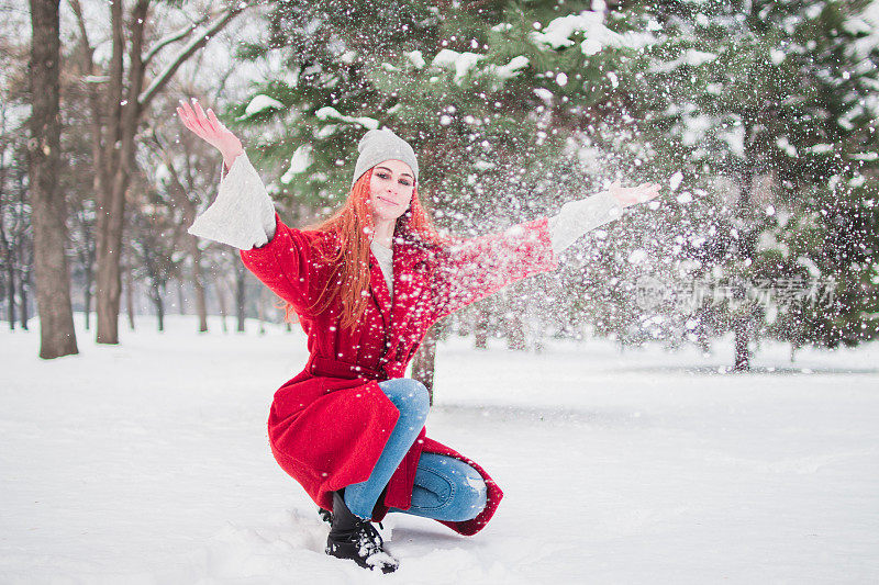
[[[351,559],[364,569],[391,573],[400,564],[385,552],[381,536],[369,520],[358,518],[345,505],[342,492],[333,492],[333,521],[326,538],[326,554]]]

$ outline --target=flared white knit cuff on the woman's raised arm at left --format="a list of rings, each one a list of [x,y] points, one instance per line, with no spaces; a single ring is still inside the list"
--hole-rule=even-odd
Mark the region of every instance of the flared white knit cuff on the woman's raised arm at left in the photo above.
[[[242,250],[265,246],[275,237],[275,205],[246,154],[232,162],[216,199],[188,232]]]

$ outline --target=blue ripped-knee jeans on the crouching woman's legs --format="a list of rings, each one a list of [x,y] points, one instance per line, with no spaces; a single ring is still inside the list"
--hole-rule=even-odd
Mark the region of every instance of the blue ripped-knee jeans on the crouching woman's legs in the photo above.
[[[376,502],[421,432],[430,408],[427,389],[421,382],[396,378],[378,385],[400,410],[400,418],[369,479],[345,487],[345,505],[360,518],[371,518]],[[485,505],[486,484],[474,468],[450,457],[422,453],[411,507],[408,510],[390,508],[389,511],[460,521],[475,518]]]

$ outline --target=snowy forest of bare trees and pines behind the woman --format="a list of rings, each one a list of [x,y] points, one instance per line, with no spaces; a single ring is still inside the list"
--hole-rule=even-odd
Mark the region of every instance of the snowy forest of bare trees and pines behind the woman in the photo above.
[[[26,328],[30,11],[2,14],[0,307]],[[109,344],[168,313],[200,329],[208,314],[224,330],[281,319],[235,250],[186,233],[220,170],[175,116],[197,98],[243,136],[291,225],[343,201],[356,142],[379,125],[414,144],[437,224],[461,236],[616,178],[663,184],[439,338],[708,348],[733,331],[739,369],[761,339],[791,358],[874,339],[877,22],[864,1],[65,0],[55,184],[73,310],[97,310],[86,327]]]

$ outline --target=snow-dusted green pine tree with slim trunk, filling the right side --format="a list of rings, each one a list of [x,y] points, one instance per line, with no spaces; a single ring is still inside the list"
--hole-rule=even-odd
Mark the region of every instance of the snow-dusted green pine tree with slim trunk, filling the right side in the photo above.
[[[654,160],[677,160],[683,184],[710,194],[685,198],[689,245],[676,263],[697,260],[696,277],[776,288],[805,273],[805,265],[812,275],[849,281],[841,284],[847,293],[837,292],[848,301],[782,315],[769,329],[779,338],[835,345],[875,331],[876,289],[868,284],[876,273],[876,198],[868,167],[877,69],[875,40],[857,20],[865,4],[657,4],[653,29],[663,41],[624,77],[635,81],[635,101],[649,104],[642,135],[657,149]],[[798,228],[803,222],[808,232]],[[766,248],[787,240],[800,243],[795,252],[790,243]],[[726,305],[736,368],[748,367],[752,336],[766,329],[760,308]]]

